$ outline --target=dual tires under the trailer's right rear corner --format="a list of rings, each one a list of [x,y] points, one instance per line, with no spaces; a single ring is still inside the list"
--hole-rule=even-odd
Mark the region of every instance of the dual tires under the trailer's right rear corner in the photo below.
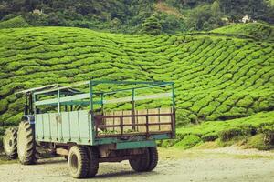
[[[157,147],[148,147],[144,149],[141,157],[130,159],[130,165],[134,171],[148,172],[152,171],[158,164]]]

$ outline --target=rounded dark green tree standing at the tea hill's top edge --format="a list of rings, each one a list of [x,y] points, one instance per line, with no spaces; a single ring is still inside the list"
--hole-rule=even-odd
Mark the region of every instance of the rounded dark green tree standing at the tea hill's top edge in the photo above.
[[[152,15],[144,20],[144,23],[142,24],[142,33],[159,35],[161,34],[161,31],[162,26],[159,19],[155,15]]]

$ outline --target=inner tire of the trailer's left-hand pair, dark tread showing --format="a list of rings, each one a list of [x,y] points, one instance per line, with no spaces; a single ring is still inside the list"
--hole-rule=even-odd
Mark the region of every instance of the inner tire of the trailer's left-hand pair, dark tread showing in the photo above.
[[[99,151],[96,147],[86,147],[89,158],[89,171],[87,177],[95,177],[99,168]]]

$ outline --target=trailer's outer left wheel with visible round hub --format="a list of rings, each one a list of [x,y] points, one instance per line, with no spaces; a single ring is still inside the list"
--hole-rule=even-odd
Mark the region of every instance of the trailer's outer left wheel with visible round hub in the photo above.
[[[88,175],[88,154],[85,147],[73,146],[68,153],[68,167],[71,177],[84,178]]]

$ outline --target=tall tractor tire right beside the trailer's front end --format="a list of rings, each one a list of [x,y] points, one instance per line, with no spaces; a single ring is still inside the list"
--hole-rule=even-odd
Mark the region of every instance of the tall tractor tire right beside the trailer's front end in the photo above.
[[[17,133],[17,153],[21,164],[37,164],[37,145],[32,126],[27,121],[19,124]]]

